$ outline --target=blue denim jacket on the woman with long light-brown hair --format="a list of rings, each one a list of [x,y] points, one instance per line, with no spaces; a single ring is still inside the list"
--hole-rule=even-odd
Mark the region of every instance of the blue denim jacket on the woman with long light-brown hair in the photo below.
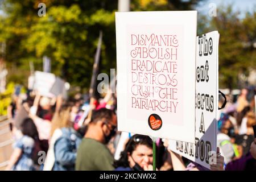
[[[55,163],[53,171],[75,170],[76,152],[82,136],[72,128],[62,128],[62,135],[54,145]]]

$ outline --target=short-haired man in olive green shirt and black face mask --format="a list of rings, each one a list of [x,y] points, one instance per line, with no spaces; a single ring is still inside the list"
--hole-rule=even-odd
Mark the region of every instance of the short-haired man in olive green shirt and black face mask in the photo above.
[[[117,117],[112,110],[94,110],[77,151],[77,171],[112,171],[114,157],[106,144],[116,133]]]

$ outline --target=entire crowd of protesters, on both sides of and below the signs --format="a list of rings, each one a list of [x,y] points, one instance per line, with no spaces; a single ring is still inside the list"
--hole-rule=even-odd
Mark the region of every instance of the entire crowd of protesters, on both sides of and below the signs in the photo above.
[[[217,152],[212,170],[256,170],[255,88],[242,89],[217,118]],[[220,106],[224,102],[219,99]],[[152,139],[117,131],[117,97],[76,94],[64,100],[34,91],[13,96],[8,108],[15,140],[6,170],[152,170]],[[168,140],[156,139],[156,168],[208,170],[168,150]]]

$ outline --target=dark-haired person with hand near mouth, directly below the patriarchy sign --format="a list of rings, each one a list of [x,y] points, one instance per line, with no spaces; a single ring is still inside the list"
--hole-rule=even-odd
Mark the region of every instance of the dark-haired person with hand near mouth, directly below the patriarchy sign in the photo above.
[[[119,160],[115,160],[115,171],[152,170],[152,140],[146,135],[135,134],[126,143]]]

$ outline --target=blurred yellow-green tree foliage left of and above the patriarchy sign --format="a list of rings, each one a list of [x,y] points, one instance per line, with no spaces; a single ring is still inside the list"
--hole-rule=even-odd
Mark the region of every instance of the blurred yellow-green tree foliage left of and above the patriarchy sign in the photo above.
[[[200,0],[133,0],[131,11],[191,10]],[[46,16],[38,16],[38,3]],[[73,86],[88,88],[98,35],[103,32],[100,72],[115,68],[115,16],[118,1],[5,0],[0,17],[0,42],[6,42],[9,80],[27,82],[29,61],[42,70],[42,57],[52,60],[52,72]],[[0,55],[1,56],[1,55]],[[22,71],[24,76],[20,75]]]

